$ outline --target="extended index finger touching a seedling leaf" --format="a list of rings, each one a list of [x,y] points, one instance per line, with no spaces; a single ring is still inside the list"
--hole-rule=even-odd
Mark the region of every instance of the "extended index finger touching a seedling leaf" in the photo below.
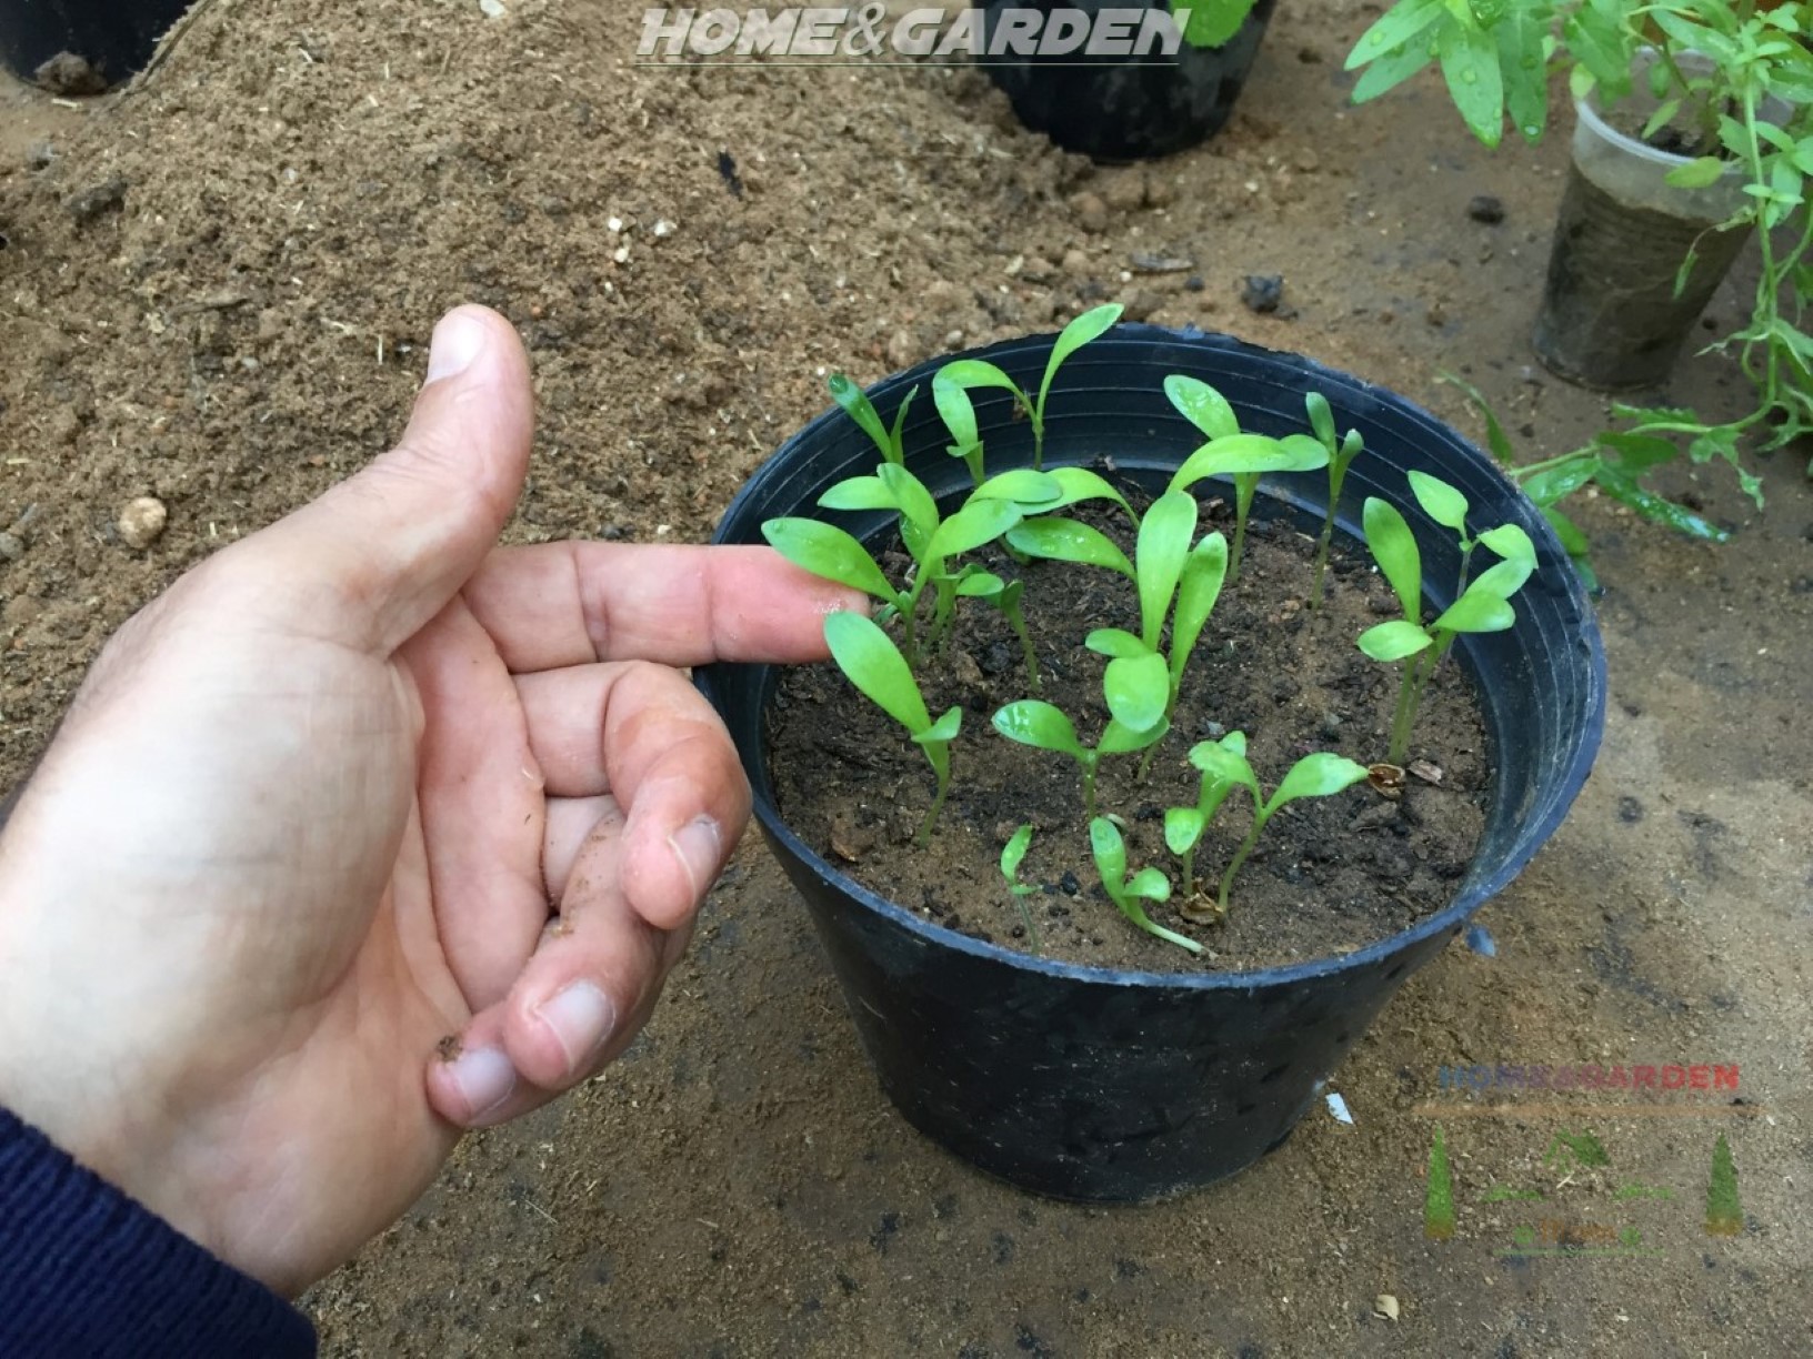
[[[865,607],[772,547],[560,542],[499,547],[466,605],[513,674],[593,661],[818,661],[825,614]]]

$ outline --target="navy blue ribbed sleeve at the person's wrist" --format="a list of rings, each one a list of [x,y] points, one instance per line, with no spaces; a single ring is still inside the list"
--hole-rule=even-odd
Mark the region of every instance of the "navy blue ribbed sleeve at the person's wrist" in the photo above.
[[[0,1355],[314,1354],[301,1312],[0,1109]]]

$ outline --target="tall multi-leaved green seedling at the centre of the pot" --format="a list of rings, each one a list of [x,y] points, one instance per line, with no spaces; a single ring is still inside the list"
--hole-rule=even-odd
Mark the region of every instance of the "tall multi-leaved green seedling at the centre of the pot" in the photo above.
[[[1195,547],[1197,498],[1168,491],[1153,500],[1140,520],[1133,547],[1133,583],[1139,589],[1140,632],[1119,627],[1091,632],[1084,645],[1108,656],[1102,689],[1108,710],[1131,730],[1149,730],[1169,721],[1184,667],[1202,636],[1227,574],[1227,540],[1211,533]],[[1173,616],[1173,603],[1177,605]],[[1164,651],[1164,625],[1171,623],[1171,651]],[[1140,777],[1151,765],[1157,743],[1148,747]]]

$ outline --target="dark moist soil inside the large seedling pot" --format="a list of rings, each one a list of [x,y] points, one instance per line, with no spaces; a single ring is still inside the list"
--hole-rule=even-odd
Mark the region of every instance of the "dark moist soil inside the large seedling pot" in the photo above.
[[[1213,504],[1202,527],[1222,529],[1231,542],[1233,511]],[[1131,558],[1126,522],[1086,511],[1071,516],[1093,522]],[[1227,799],[1195,852],[1200,895],[1186,897],[1182,870],[1164,843],[1164,812],[1197,805],[1202,776],[1189,748],[1244,732],[1247,761],[1269,795],[1311,750],[1382,761],[1398,699],[1400,667],[1378,665],[1352,645],[1367,627],[1400,612],[1371,574],[1365,551],[1334,556],[1322,609],[1311,612],[1314,538],[1260,515],[1247,525],[1238,578],[1222,591],[1184,670],[1171,732],[1148,777],[1139,777],[1140,756],[1108,756],[1095,788],[1097,812],[1122,821],[1128,873],[1151,864],[1171,881],[1171,899],[1146,902],[1148,915],[1200,942],[1200,955],[1135,928],[1104,893],[1075,761],[990,728],[995,710],[1030,690],[1019,640],[984,605],[959,611],[921,681],[934,716],[963,708],[952,794],[930,843],[919,848],[914,839],[936,786],[925,756],[832,665],[794,670],[776,689],[771,770],[787,824],[827,863],[936,924],[1097,968],[1238,971],[1305,962],[1365,948],[1441,910],[1479,843],[1490,777],[1485,725],[1452,661],[1425,692],[1414,728],[1412,754],[1427,777],[1392,781],[1394,797],[1362,783],[1287,805],[1235,879],[1227,919],[1191,919],[1213,911],[1222,870],[1253,819],[1244,792]],[[1028,632],[1039,634],[1041,698],[1093,743],[1108,723],[1106,658],[1084,651],[1082,638],[1097,627],[1139,632],[1133,582],[1059,562],[1017,569],[997,549],[977,560],[1001,580],[1024,582]],[[906,564],[890,565],[899,573]],[[1015,899],[999,864],[1021,823],[1033,826],[1033,839],[1019,881],[1035,892]]]

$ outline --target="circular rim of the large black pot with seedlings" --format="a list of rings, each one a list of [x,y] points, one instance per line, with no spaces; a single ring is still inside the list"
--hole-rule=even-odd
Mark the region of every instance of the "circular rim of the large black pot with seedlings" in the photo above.
[[[1427,410],[1423,410],[1421,406],[1418,406],[1416,402],[1409,400],[1407,397],[1396,391],[1389,391],[1387,388],[1376,388],[1376,384],[1367,382],[1365,379],[1358,379],[1352,377],[1351,373],[1342,373],[1338,370],[1327,368],[1325,364],[1320,364],[1314,359],[1289,353],[1285,350],[1269,350],[1262,344],[1251,344],[1235,335],[1204,332],[1198,330],[1197,326],[1169,328],[1169,326],[1155,326],[1149,323],[1122,323],[1113,326],[1108,332],[1108,335],[1115,335],[1120,339],[1151,339],[1168,342],[1182,341],[1188,344],[1207,342],[1209,348],[1217,350],[1233,350],[1269,359],[1282,359],[1285,362],[1300,366],[1305,373],[1327,375],[1352,388],[1387,391],[1387,395],[1391,395],[1396,402],[1400,402],[1407,411],[1427,420],[1429,424],[1434,424],[1452,433],[1483,467],[1487,467],[1494,477],[1501,478],[1507,487],[1514,489],[1517,495],[1523,495],[1523,491],[1517,489],[1516,482],[1505,477],[1505,473],[1483,449],[1479,449],[1470,439],[1461,437],[1459,431],[1454,431],[1452,426],[1445,424],[1443,420],[1438,420]],[[1006,341],[999,341],[995,344],[963,350],[959,353],[939,355],[932,361],[914,364],[912,368],[888,373],[879,382],[874,382],[865,390],[868,393],[874,393],[881,388],[903,382],[908,375],[919,373],[921,370],[930,371],[934,364],[950,362],[952,359],[957,357],[988,355],[1004,346],[1026,344],[1035,341],[1050,342],[1055,339],[1057,339],[1055,333],[1017,335]],[[803,439],[814,428],[827,424],[830,420],[843,420],[843,419],[848,417],[841,410],[832,406],[830,410],[816,415],[807,424],[800,426],[800,429],[796,429],[774,453],[769,455],[769,458],[760,467],[756,467],[756,471],[743,482],[742,489],[731,498],[731,504],[725,506],[725,511],[718,520],[720,527],[713,535],[713,540],[718,542],[723,531],[722,525],[734,518],[734,511],[742,506],[742,502],[760,493],[760,482],[767,475],[776,475],[772,473],[772,469],[778,466],[780,455],[789,446]],[[1282,500],[1282,496],[1273,496],[1273,498]],[[1546,538],[1550,547],[1550,560],[1559,560],[1563,564],[1561,569],[1566,571],[1566,594],[1570,596],[1570,602],[1575,605],[1575,611],[1581,618],[1581,636],[1590,641],[1590,645],[1586,647],[1586,663],[1592,669],[1590,701],[1586,703],[1583,712],[1586,739],[1575,750],[1574,759],[1570,761],[1565,776],[1561,776],[1561,781],[1565,785],[1574,786],[1574,795],[1566,797],[1566,801],[1563,801],[1559,806],[1554,806],[1539,823],[1536,823],[1536,834],[1532,835],[1530,848],[1527,852],[1507,857],[1505,864],[1501,864],[1496,873],[1492,873],[1487,879],[1481,879],[1472,888],[1458,893],[1440,911],[1434,911],[1429,917],[1418,920],[1409,930],[1401,930],[1394,935],[1387,935],[1385,939],[1378,939],[1371,944],[1365,944],[1363,948],[1354,949],[1352,953],[1342,953],[1323,959],[1309,959],[1307,962],[1255,968],[1251,971],[1188,971],[1188,973],[1131,971],[1122,968],[1059,962],[1055,959],[1035,957],[1032,953],[1021,953],[1017,949],[1010,949],[1001,944],[972,939],[970,935],[963,935],[957,933],[955,930],[948,930],[946,926],[921,919],[905,906],[883,897],[881,893],[845,875],[834,864],[830,864],[830,861],[827,861],[818,850],[814,850],[800,835],[794,834],[794,830],[783,821],[780,808],[774,805],[774,797],[769,788],[752,786],[752,810],[756,814],[758,823],[761,824],[761,830],[772,839],[785,844],[787,850],[800,859],[800,863],[810,866],[814,873],[830,881],[850,901],[856,901],[867,910],[874,911],[876,915],[890,920],[892,924],[908,930],[910,933],[917,935],[923,942],[957,949],[961,953],[970,953],[975,959],[990,960],[1021,971],[1039,973],[1053,980],[1070,980],[1088,986],[1151,988],[1151,989],[1168,989],[1178,993],[1229,991],[1229,989],[1260,991],[1271,988],[1289,988],[1298,982],[1333,977],[1345,971],[1360,971],[1365,968],[1383,966],[1398,953],[1403,953],[1405,949],[1414,948],[1416,944],[1434,935],[1459,933],[1459,928],[1469,915],[1479,910],[1479,906],[1483,906],[1494,895],[1503,892],[1505,886],[1508,886],[1517,877],[1517,873],[1523,872],[1528,861],[1536,857],[1537,850],[1541,850],[1541,846],[1548,843],[1554,832],[1566,819],[1566,814],[1572,810],[1574,799],[1579,795],[1579,788],[1585,786],[1586,777],[1592,772],[1594,759],[1599,754],[1599,743],[1605,734],[1606,694],[1608,694],[1605,647],[1599,641],[1599,622],[1586,596],[1586,587],[1581,582],[1579,573],[1574,571],[1572,565],[1568,565],[1566,551],[1561,547],[1559,540],[1556,540],[1554,529],[1548,525],[1548,522],[1543,518],[1541,513],[1536,513],[1532,518],[1536,520],[1536,527],[1539,529],[1539,533],[1532,533],[1532,536],[1536,536],[1537,542],[1543,542],[1543,538]],[[720,670],[720,665],[723,663],[700,667],[700,670],[694,676],[694,681],[709,699],[714,699],[716,694],[716,672]],[[778,665],[772,663],[736,663],[736,665],[760,670],[761,674],[760,683],[763,685],[772,683],[771,676],[774,674],[774,670],[780,669]],[[763,698],[763,708],[767,708],[767,698]],[[763,766],[763,779],[752,781],[752,785],[767,783],[765,754],[761,756],[761,766]],[[1494,797],[1496,795],[1498,788],[1494,785]]]

